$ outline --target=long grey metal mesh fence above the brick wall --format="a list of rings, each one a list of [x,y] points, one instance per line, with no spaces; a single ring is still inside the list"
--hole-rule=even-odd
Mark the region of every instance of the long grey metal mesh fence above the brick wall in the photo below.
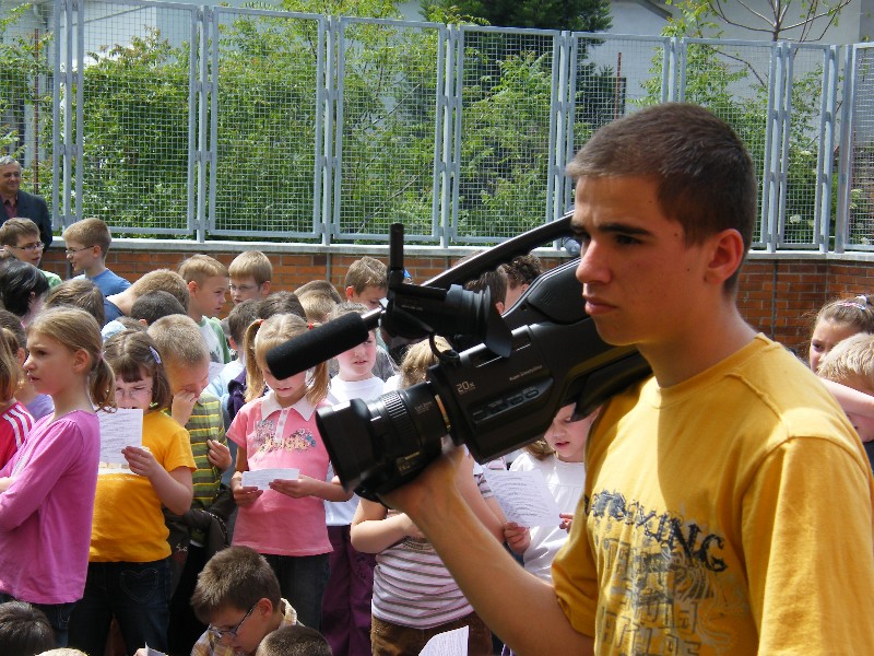
[[[839,78],[827,46],[22,5],[0,19],[0,151],[56,225],[329,243],[383,242],[402,221],[413,242],[488,244],[562,213],[564,163],[593,130],[676,98],[753,154],[758,246],[825,249],[837,215],[841,244],[869,249],[874,87],[854,48]]]

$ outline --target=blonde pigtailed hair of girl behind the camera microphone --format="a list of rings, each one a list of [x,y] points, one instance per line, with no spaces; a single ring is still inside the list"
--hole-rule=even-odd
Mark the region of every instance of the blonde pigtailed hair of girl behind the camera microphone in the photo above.
[[[264,362],[267,352],[284,344],[309,330],[312,324],[293,314],[279,314],[262,320],[252,321],[246,329],[246,402],[253,401],[264,389],[264,374],[259,362]],[[312,376],[307,376],[306,397],[312,403],[319,403],[328,396],[328,363],[316,365]]]

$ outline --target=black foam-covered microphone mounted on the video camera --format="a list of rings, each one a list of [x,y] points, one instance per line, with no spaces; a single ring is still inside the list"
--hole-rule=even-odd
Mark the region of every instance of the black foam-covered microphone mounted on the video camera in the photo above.
[[[357,347],[367,341],[381,314],[382,309],[363,315],[351,313],[290,339],[268,351],[270,373],[279,379],[287,378]]]

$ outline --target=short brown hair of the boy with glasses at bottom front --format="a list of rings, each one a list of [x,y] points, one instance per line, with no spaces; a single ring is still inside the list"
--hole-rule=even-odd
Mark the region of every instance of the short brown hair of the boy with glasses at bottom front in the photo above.
[[[270,600],[274,609],[282,599],[270,564],[249,547],[227,547],[203,566],[191,607],[197,618],[209,624],[213,613],[228,607],[246,611],[259,599]]]

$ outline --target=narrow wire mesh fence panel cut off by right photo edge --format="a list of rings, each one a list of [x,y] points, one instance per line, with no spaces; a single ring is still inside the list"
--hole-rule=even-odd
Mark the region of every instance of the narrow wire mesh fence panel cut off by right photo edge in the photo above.
[[[874,48],[854,48],[846,247],[874,249]],[[845,142],[846,143],[846,142]]]

